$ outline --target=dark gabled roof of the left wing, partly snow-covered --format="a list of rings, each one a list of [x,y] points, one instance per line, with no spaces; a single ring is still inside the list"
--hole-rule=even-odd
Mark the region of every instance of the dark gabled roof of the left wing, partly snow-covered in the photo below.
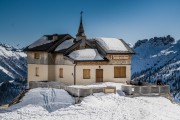
[[[53,39],[53,36],[56,36],[56,39]],[[73,37],[69,34],[44,35],[31,45],[27,46],[24,51],[53,52],[59,44],[68,39],[73,39]]]

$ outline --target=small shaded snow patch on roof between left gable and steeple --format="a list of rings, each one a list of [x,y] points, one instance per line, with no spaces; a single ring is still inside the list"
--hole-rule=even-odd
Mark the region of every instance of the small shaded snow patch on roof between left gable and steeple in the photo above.
[[[72,46],[74,44],[74,39],[70,39],[70,40],[65,40],[64,42],[62,42],[56,49],[55,51],[60,51],[63,49],[67,49],[70,46]]]

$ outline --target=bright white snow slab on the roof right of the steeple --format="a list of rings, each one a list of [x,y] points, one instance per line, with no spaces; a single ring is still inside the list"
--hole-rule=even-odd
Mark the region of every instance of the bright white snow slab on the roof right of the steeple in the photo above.
[[[122,41],[117,38],[96,38],[96,41],[107,50],[128,51]]]

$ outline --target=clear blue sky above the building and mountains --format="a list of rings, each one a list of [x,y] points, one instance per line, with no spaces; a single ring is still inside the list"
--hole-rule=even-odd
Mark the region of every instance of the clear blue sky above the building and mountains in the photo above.
[[[89,38],[180,39],[180,0],[0,0],[0,42],[23,47],[44,34],[75,36],[81,10]]]

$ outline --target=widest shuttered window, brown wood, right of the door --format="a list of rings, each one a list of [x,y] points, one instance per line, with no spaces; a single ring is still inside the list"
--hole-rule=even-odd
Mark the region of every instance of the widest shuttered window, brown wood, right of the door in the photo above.
[[[114,78],[126,78],[126,67],[114,67]]]

